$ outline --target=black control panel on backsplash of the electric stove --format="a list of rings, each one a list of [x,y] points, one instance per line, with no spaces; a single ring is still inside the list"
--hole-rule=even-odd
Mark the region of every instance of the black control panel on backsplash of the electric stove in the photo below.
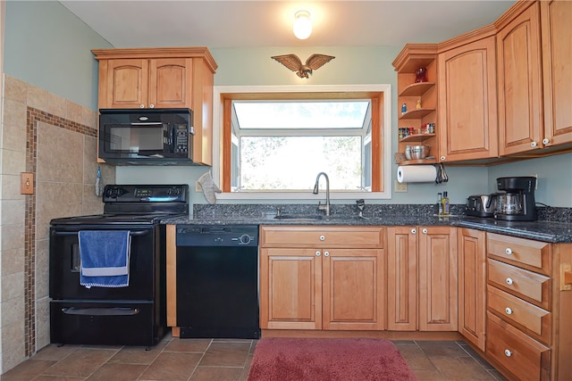
[[[181,185],[108,185],[104,203],[173,203],[189,199],[189,186]]]

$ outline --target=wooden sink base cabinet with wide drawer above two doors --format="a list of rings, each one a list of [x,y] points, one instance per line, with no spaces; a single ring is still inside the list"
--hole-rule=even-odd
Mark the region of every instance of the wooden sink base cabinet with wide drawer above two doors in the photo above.
[[[260,327],[384,329],[383,238],[383,228],[261,227]]]

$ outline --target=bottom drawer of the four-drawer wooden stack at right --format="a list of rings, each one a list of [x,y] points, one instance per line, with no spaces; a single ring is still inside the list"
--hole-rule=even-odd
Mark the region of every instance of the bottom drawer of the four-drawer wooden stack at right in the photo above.
[[[550,377],[550,349],[487,314],[486,352],[519,380],[546,380]]]

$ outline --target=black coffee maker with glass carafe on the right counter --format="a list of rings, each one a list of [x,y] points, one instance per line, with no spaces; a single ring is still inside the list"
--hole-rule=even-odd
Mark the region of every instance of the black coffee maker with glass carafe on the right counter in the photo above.
[[[495,195],[494,219],[535,221],[535,187],[536,178],[533,177],[497,178],[497,188],[504,193]]]

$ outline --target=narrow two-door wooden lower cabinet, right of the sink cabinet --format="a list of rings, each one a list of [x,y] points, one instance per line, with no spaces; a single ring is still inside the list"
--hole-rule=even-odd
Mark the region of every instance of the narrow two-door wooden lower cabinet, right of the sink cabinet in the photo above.
[[[388,329],[457,331],[457,229],[387,230]]]

